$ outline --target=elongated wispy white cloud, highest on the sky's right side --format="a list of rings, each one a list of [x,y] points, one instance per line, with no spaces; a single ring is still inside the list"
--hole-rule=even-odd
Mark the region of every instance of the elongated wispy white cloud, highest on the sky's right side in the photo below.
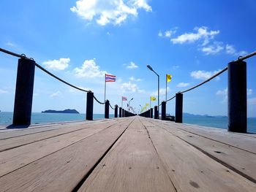
[[[207,45],[210,39],[214,39],[214,36],[219,34],[218,31],[208,31],[207,27],[195,28],[196,33],[185,33],[180,36],[170,39],[173,44],[184,44],[184,43],[192,43],[198,40],[203,40],[203,46]]]

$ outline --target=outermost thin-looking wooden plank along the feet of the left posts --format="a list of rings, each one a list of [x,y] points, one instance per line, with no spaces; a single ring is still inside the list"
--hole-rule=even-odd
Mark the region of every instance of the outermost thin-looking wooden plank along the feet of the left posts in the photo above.
[[[8,139],[12,137],[20,137],[27,134],[34,134],[43,131],[49,131],[52,129],[58,128],[69,128],[70,125],[83,125],[83,124],[95,124],[95,123],[105,123],[109,120],[94,120],[94,121],[78,121],[78,122],[61,122],[61,123],[49,123],[49,124],[42,124],[42,125],[31,125],[28,128],[5,128],[4,130],[0,130],[0,140],[1,139]]]

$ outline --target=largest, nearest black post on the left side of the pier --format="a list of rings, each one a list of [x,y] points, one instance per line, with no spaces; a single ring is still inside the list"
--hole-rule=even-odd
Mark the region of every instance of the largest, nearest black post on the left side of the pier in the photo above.
[[[15,91],[13,125],[30,125],[34,89],[35,61],[20,58]]]

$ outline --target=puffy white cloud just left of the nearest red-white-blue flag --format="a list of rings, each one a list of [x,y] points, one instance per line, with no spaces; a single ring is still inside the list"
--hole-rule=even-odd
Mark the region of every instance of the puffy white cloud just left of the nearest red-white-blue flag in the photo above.
[[[108,74],[106,71],[101,71],[99,66],[95,63],[95,59],[86,60],[83,62],[83,65],[79,68],[74,69],[76,77],[104,77],[105,74]]]

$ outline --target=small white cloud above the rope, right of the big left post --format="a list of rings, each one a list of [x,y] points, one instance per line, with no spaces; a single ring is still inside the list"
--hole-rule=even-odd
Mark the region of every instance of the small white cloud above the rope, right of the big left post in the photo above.
[[[60,58],[59,60],[48,60],[42,62],[42,64],[47,69],[53,69],[53,70],[64,70],[69,66],[70,59],[69,58]]]

